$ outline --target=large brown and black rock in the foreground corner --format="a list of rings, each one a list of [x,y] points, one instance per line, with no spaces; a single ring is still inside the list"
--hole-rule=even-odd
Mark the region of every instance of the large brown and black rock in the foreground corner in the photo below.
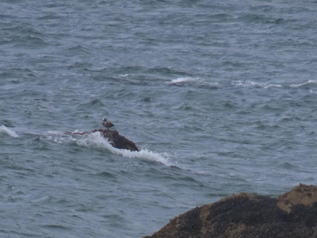
[[[300,184],[278,198],[239,193],[196,207],[143,238],[317,238],[317,187]]]

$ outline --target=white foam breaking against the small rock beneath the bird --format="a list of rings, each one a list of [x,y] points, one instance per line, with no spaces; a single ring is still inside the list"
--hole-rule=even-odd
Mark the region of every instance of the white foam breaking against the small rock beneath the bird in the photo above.
[[[78,130],[74,131],[74,133]],[[106,149],[115,155],[120,155],[127,158],[139,158],[147,159],[152,161],[161,162],[167,166],[170,166],[171,163],[168,161],[171,158],[171,155],[168,153],[157,153],[152,152],[148,149],[141,149],[140,151],[130,151],[127,149],[117,149],[114,148],[106,138],[99,131],[94,133],[87,133],[84,135],[65,135],[61,134],[58,131],[50,131],[49,139],[52,139],[56,143],[70,143],[75,142],[79,146],[84,146],[93,149]]]

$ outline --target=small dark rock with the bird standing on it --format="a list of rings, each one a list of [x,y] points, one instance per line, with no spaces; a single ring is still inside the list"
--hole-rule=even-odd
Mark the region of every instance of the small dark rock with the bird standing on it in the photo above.
[[[134,142],[128,140],[126,137],[119,135],[116,130],[98,129],[92,132],[100,131],[104,137],[108,138],[109,143],[118,149],[129,149],[131,151],[139,151]]]

